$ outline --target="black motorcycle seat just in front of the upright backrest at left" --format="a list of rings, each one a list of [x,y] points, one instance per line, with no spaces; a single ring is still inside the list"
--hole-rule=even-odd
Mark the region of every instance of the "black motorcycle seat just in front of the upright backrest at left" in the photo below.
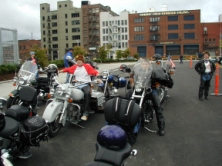
[[[29,116],[29,108],[22,105],[12,105],[6,112],[5,115],[19,122],[26,119]]]

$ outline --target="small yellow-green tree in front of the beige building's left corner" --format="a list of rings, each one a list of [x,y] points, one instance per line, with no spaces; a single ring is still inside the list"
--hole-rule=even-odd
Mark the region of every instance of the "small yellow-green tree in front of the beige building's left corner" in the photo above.
[[[46,53],[46,50],[45,49],[42,49],[40,48],[39,46],[37,45],[34,45],[30,51],[34,51],[35,52],[35,57],[38,59],[38,63],[39,65],[44,68],[46,66],[48,66],[49,62],[48,62],[48,56],[47,56],[47,53]],[[30,55],[27,55],[27,58],[29,57]]]

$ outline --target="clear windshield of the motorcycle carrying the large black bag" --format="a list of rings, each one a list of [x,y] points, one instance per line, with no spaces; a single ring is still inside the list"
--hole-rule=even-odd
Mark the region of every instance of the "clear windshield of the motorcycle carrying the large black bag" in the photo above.
[[[149,88],[152,71],[152,64],[148,59],[141,59],[138,61],[138,63],[133,67],[135,86]]]

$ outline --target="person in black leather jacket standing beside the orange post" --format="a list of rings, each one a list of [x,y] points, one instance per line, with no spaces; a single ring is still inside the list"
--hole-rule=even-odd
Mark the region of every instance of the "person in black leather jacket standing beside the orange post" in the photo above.
[[[204,52],[202,60],[197,62],[195,65],[195,70],[200,75],[200,87],[199,87],[199,100],[203,101],[203,96],[206,100],[208,99],[208,93],[210,88],[210,81],[212,79],[212,76],[216,70],[216,66],[214,62],[212,62],[210,59],[209,52]]]

